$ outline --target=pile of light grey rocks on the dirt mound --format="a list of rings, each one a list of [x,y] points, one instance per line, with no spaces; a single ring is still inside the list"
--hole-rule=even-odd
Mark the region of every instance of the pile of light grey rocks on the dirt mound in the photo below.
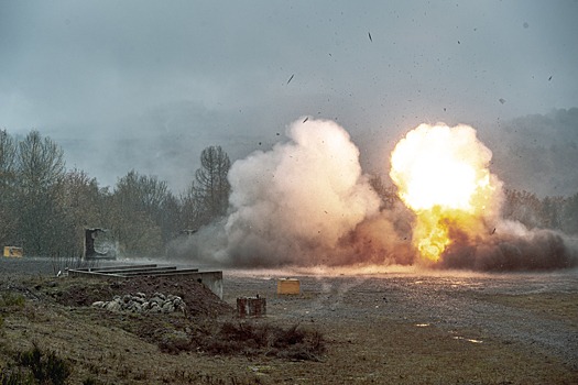
[[[130,311],[130,312],[185,312],[186,305],[178,296],[164,295],[155,293],[150,298],[146,298],[144,293],[137,293],[135,295],[126,294],[123,296],[114,296],[112,300],[99,300],[92,304],[92,307],[99,309],[107,309],[110,311]]]

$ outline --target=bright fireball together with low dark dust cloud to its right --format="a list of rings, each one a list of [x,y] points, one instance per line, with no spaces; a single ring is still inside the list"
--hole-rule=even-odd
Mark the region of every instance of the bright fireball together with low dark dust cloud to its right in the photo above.
[[[412,243],[422,263],[484,271],[576,265],[565,235],[501,218],[502,183],[489,170],[491,157],[468,125],[422,124],[395,146],[390,176],[415,213]]]

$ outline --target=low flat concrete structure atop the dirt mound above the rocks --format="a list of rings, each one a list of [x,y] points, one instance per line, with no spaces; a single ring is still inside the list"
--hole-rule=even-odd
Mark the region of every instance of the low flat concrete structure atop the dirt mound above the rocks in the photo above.
[[[205,285],[222,299],[222,272],[199,272],[198,268],[177,268],[176,266],[124,265],[86,267],[68,270],[70,276],[88,276],[105,279],[130,279],[139,276],[154,277],[187,277]]]

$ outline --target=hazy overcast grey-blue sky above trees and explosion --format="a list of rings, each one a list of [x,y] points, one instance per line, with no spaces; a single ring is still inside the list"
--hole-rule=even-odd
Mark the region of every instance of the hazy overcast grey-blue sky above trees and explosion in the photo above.
[[[203,148],[235,160],[310,116],[386,174],[422,122],[578,107],[577,20],[577,1],[0,0],[0,128],[101,186],[134,168],[179,191]]]

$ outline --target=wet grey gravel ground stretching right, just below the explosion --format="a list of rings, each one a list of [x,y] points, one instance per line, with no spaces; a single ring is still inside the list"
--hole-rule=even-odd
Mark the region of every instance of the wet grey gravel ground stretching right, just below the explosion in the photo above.
[[[524,308],[489,301],[495,296],[577,294],[578,270],[555,273],[380,274],[362,276],[293,276],[304,296],[286,314],[286,298],[277,298],[274,275],[243,272],[226,274],[225,292],[268,297],[268,314],[283,314],[303,322],[339,319],[360,322],[386,315],[414,324],[452,330],[476,330],[504,343],[522,343],[560,358],[578,371],[578,304],[571,319],[548,317]],[[231,304],[233,298],[226,298]],[[555,300],[555,299],[554,299]],[[469,339],[468,336],[456,338]],[[472,339],[473,340],[473,339]],[[476,340],[473,340],[476,341]]]

